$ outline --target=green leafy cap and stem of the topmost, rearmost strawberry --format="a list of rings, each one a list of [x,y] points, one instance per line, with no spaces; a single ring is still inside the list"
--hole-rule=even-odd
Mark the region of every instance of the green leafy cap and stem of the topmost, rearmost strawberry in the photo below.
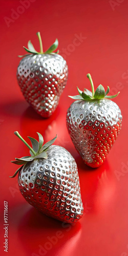
[[[18,55],[19,58],[22,58],[22,57],[25,57],[25,56],[28,56],[30,54],[47,54],[47,53],[53,53],[53,51],[55,51],[58,47],[58,39],[56,38],[54,44],[52,46],[49,47],[49,49],[44,52],[43,51],[43,48],[42,48],[42,39],[41,39],[41,36],[40,36],[40,32],[37,32],[36,33],[37,36],[38,36],[38,39],[39,39],[39,46],[40,46],[40,52],[37,52],[33,46],[33,44],[31,43],[31,40],[28,41],[28,48],[24,47],[24,49],[27,51],[27,54],[25,55]],[[57,52],[54,52],[54,53],[58,53],[59,51]]]

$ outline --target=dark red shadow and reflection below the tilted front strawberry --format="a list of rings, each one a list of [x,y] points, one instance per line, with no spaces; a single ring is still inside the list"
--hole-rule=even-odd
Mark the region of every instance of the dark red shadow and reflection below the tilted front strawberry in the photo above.
[[[79,241],[80,235],[80,222],[64,224],[45,216],[33,207],[26,212],[18,226],[18,237],[28,256],[58,255],[58,251],[59,255],[67,254],[71,241],[72,250],[75,251],[75,241]]]

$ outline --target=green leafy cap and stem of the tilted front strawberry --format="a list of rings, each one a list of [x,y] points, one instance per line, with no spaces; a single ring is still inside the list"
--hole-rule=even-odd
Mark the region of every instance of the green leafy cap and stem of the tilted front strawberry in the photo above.
[[[22,158],[15,158],[14,161],[11,161],[12,163],[15,163],[15,164],[18,164],[18,165],[22,165],[20,166],[15,174],[13,176],[10,176],[10,178],[14,178],[18,172],[20,171],[20,169],[22,169],[23,165],[26,165],[28,162],[31,162],[33,161],[34,159],[37,159],[37,158],[44,158],[44,159],[47,159],[48,158],[48,154],[47,154],[47,150],[48,148],[54,143],[54,141],[56,140],[57,138],[57,135],[54,139],[48,141],[47,143],[44,143],[44,139],[42,137],[42,135],[40,133],[37,133],[38,134],[38,138],[39,138],[39,141],[37,141],[36,139],[32,138],[32,137],[29,137],[28,138],[30,139],[31,143],[32,143],[32,147],[22,138],[22,136],[19,135],[18,132],[14,132],[14,134],[24,142],[24,144],[29,148],[30,150],[30,155],[31,156],[26,156],[26,157],[22,157]]]

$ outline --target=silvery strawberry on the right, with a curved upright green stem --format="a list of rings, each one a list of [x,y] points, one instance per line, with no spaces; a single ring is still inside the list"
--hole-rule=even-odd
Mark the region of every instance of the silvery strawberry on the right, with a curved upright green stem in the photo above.
[[[92,92],[78,88],[79,95],[69,96],[74,101],[67,112],[67,127],[74,146],[83,161],[91,166],[100,166],[109,153],[121,129],[121,111],[100,84],[96,91],[90,74]]]

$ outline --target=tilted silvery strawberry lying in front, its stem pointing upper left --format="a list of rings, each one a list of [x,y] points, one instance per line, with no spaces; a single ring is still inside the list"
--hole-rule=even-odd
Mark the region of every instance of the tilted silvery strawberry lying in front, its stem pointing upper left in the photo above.
[[[14,133],[29,148],[31,156],[16,158],[20,192],[29,204],[44,214],[63,222],[76,222],[83,214],[77,165],[63,147],[52,145],[56,137],[46,144],[41,134],[39,142],[31,137],[30,145]]]

